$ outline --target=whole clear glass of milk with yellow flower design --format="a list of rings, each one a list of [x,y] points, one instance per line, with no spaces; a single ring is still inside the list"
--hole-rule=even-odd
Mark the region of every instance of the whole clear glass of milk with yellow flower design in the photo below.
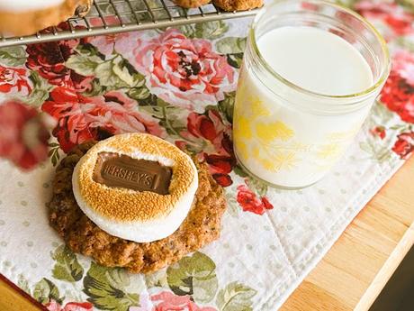
[[[385,42],[324,1],[275,1],[247,38],[233,116],[239,163],[282,188],[322,178],[359,131],[390,73]]]

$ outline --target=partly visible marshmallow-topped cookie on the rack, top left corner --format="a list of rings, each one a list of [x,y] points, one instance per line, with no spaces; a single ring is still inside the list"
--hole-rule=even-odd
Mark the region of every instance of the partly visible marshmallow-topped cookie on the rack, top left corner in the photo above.
[[[85,16],[94,0],[0,1],[0,32],[23,36],[58,25],[72,16]]]

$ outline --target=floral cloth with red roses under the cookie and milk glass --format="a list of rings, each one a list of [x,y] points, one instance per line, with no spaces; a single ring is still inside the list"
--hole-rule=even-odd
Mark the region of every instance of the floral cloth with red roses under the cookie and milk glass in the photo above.
[[[232,105],[250,19],[0,49],[1,96],[56,121],[49,160],[31,172],[10,160],[28,168],[37,158],[21,149],[12,159],[0,131],[0,154],[10,158],[0,161],[0,272],[49,310],[281,306],[414,149],[413,7],[342,3],[383,32],[392,73],[347,154],[326,178],[296,191],[247,177],[232,151]],[[70,252],[49,227],[45,206],[65,152],[127,132],[155,134],[205,160],[229,202],[220,240],[147,276]]]

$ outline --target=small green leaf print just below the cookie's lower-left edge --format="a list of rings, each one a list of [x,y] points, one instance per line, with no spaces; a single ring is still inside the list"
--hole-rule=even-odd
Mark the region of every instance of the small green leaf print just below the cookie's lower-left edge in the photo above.
[[[76,282],[84,276],[84,269],[77,261],[75,253],[66,245],[58,246],[51,257],[56,261],[52,270],[53,278]]]

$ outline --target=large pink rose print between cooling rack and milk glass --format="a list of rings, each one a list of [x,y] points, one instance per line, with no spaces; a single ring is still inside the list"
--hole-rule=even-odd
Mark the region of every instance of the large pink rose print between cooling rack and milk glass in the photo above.
[[[237,72],[212,50],[210,41],[188,39],[168,29],[142,41],[134,54],[151,93],[170,104],[202,112],[224,99],[224,92],[236,89]]]

